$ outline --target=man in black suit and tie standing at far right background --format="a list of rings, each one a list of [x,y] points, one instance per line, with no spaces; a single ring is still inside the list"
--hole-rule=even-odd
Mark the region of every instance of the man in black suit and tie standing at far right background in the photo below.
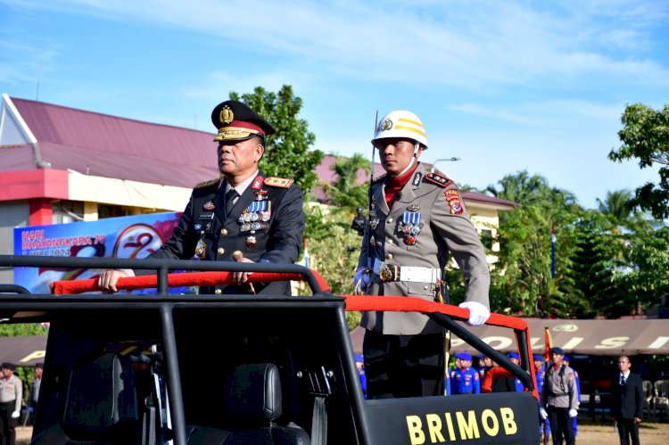
[[[639,424],[643,417],[643,382],[641,377],[630,372],[630,358],[618,358],[618,378],[611,382],[613,407],[611,416],[618,426],[621,445],[638,445]]]

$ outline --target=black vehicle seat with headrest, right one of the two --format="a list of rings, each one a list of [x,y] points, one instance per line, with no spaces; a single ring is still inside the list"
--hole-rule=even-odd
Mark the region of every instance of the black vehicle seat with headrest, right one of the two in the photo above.
[[[281,379],[276,365],[235,367],[227,375],[225,405],[234,428],[194,427],[189,433],[189,444],[310,444],[309,434],[301,428],[275,423],[282,415]]]

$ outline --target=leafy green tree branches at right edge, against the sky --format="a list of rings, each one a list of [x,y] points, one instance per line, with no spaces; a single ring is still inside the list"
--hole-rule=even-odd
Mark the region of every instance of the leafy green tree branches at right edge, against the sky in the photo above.
[[[653,110],[641,103],[625,107],[623,128],[618,132],[619,148],[608,153],[608,159],[622,162],[636,158],[645,169],[655,163],[659,169],[659,183],[647,183],[636,189],[634,202],[649,210],[657,219],[669,217],[669,105]]]

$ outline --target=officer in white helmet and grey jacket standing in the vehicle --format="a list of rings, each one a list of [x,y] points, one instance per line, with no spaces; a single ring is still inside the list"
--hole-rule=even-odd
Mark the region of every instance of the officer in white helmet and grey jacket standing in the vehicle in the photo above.
[[[468,323],[490,317],[490,272],[457,185],[418,161],[425,128],[410,111],[391,111],[374,139],[386,174],[371,185],[369,218],[353,284],[359,293],[448,301],[442,271],[450,254],[467,284]],[[445,331],[417,312],[363,312],[360,326],[368,398],[443,394]]]

